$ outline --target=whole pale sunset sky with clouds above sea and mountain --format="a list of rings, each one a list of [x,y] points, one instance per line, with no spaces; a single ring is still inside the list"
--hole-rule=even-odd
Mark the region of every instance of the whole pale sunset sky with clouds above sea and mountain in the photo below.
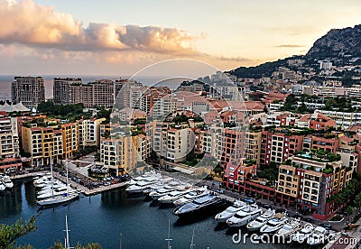
[[[133,75],[174,59],[254,66],[305,54],[360,13],[359,0],[0,0],[0,74]]]

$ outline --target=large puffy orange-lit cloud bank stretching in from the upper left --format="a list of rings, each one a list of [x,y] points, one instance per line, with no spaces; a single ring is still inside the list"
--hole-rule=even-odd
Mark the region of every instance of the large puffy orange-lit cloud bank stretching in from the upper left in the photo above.
[[[83,23],[71,14],[57,12],[51,6],[32,0],[0,0],[0,43],[64,51],[150,51],[191,54],[191,42],[198,37],[176,28],[116,23]]]

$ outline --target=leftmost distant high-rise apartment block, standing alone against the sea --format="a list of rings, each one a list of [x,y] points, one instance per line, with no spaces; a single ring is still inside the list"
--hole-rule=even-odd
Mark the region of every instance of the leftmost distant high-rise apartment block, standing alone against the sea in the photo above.
[[[45,101],[44,80],[42,77],[15,77],[12,83],[12,101],[23,106],[37,107]]]

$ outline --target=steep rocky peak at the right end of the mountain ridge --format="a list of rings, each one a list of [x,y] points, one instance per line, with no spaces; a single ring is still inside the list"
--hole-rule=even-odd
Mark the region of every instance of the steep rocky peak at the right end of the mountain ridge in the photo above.
[[[313,43],[308,58],[325,59],[343,56],[361,57],[361,25],[354,28],[332,29]]]

